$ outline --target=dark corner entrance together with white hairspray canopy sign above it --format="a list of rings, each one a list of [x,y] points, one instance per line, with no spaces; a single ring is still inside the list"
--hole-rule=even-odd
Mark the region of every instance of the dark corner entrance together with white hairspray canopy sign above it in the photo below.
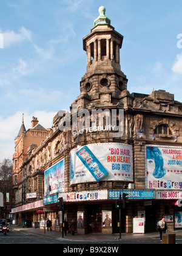
[[[112,220],[112,205],[107,204],[107,190],[59,193],[59,197],[63,198],[67,220],[76,220],[78,233],[102,233],[106,226],[103,224],[104,213],[108,212]],[[108,228],[112,233],[112,221]]]

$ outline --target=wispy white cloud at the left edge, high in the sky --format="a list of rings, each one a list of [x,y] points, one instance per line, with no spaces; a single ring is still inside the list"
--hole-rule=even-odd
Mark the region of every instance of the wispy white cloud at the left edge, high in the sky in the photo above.
[[[32,41],[32,32],[25,29],[25,27],[21,27],[18,33],[15,33],[13,30],[7,30],[5,32],[0,30],[0,32],[4,39],[4,48],[10,47],[12,44],[21,43],[22,41]]]

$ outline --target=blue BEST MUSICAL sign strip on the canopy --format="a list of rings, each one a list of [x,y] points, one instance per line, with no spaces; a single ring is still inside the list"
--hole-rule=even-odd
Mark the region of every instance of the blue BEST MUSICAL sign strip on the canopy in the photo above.
[[[109,190],[109,199],[119,199],[126,193],[127,199],[155,199],[155,190]]]

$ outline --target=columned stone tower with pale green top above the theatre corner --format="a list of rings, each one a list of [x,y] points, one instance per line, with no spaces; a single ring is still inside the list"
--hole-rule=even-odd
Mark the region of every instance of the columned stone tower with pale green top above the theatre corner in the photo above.
[[[89,107],[90,102],[92,106],[116,105],[122,98],[122,92],[127,89],[127,79],[120,66],[123,35],[110,25],[105,12],[104,6],[99,7],[93,29],[83,38],[87,72],[81,79],[81,94],[76,100],[78,108]]]

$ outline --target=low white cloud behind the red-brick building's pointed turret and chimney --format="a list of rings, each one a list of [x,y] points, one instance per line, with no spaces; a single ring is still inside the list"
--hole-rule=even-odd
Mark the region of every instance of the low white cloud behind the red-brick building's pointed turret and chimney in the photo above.
[[[53,117],[56,112],[35,111],[33,113],[24,112],[24,124],[26,130],[31,128],[32,116],[35,116],[39,120],[45,129],[52,127]],[[3,118],[0,116],[0,162],[4,158],[12,160],[15,153],[15,138],[18,135],[19,129],[22,124],[22,113],[16,112],[12,116]]]

